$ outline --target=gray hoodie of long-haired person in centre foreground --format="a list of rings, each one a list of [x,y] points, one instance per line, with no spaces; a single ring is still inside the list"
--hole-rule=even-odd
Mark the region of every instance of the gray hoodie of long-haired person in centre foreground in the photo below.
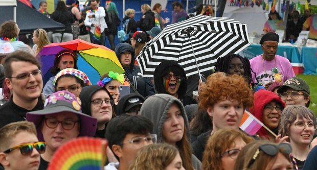
[[[176,103],[180,108],[180,112],[184,117],[184,125],[187,129],[187,136],[190,138],[190,130],[188,118],[182,103],[172,95],[169,94],[155,94],[150,96],[143,103],[140,115],[147,117],[153,123],[153,133],[157,135],[157,143],[163,143],[163,124],[167,118],[168,109],[173,103]],[[195,169],[201,169],[201,162],[192,155],[192,164]]]

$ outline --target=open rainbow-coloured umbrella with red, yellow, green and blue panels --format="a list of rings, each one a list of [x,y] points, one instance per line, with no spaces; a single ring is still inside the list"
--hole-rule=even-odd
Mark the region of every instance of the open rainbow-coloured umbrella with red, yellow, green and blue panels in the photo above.
[[[49,70],[54,65],[55,55],[61,50],[72,50],[77,53],[78,69],[85,72],[93,84],[97,84],[100,77],[109,71],[123,74],[124,69],[116,53],[103,45],[86,42],[81,39],[51,43],[40,51],[42,77],[50,78]]]

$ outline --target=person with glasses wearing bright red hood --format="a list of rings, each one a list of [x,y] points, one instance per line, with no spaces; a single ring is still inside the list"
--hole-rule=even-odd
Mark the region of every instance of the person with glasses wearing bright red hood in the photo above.
[[[260,138],[275,141],[284,108],[285,103],[276,93],[264,89],[254,93],[254,107],[250,108],[250,112],[274,133],[262,127],[257,133]]]

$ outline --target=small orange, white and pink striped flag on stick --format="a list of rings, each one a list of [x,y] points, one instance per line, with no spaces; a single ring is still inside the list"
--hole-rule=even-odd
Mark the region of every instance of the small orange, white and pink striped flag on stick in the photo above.
[[[244,111],[239,128],[249,135],[255,135],[264,124],[252,113]]]

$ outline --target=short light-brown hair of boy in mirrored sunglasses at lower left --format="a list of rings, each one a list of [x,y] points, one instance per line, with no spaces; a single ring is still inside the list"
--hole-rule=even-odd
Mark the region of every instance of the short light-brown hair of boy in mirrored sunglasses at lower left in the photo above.
[[[31,122],[20,121],[8,124],[0,129],[0,152],[9,149],[12,139],[20,132],[29,132],[37,136],[35,125]]]

